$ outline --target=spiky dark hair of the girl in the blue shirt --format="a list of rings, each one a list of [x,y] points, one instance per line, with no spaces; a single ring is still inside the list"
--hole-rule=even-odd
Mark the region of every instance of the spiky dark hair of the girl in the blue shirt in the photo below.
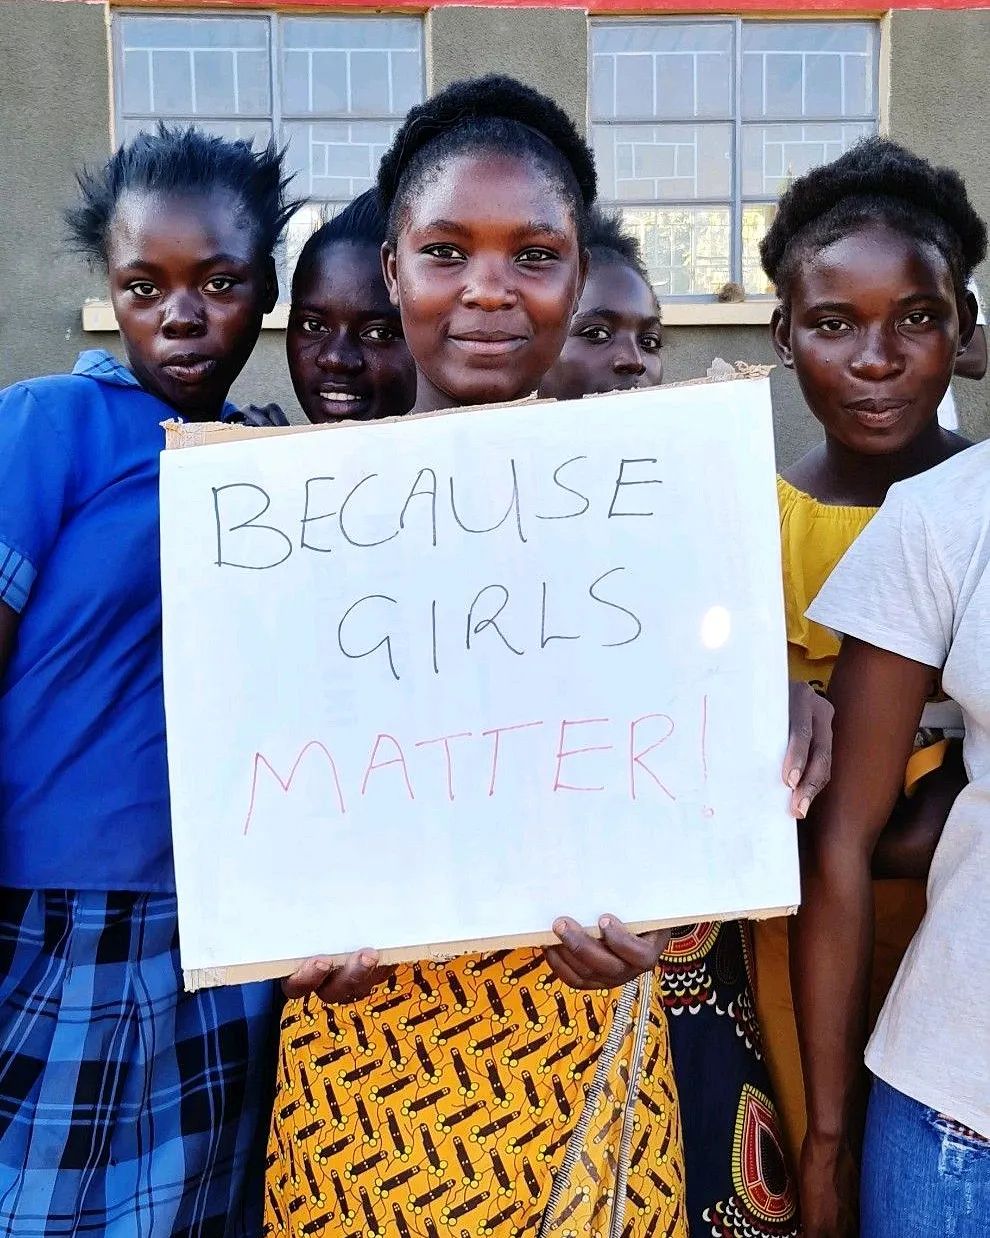
[[[188,196],[226,189],[236,197],[257,234],[257,248],[270,255],[301,202],[287,202],[291,176],[283,176],[283,151],[273,142],[260,151],[251,142],[226,141],[194,128],[160,124],[139,134],[99,170],[75,180],[82,201],[66,212],[75,250],[106,264],[106,235],[121,194],[129,189]]]

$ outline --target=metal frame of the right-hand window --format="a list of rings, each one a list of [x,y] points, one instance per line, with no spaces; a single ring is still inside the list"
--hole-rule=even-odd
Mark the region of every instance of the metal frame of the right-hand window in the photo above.
[[[762,121],[756,120],[744,120],[742,116],[742,27],[747,26],[798,26],[806,22],[830,22],[840,24],[843,26],[869,26],[874,31],[874,74],[872,74],[872,109],[869,115],[849,115],[849,116],[773,116],[767,118]],[[594,56],[595,56],[595,28],[605,26],[728,26],[731,30],[731,64],[733,64],[733,88],[730,92],[733,114],[729,116],[703,116],[703,118],[658,118],[647,116],[645,113],[636,116],[622,116],[621,119],[608,119],[601,120],[595,116],[595,103],[594,103]],[[615,16],[593,16],[588,24],[588,135],[593,140],[595,129],[605,128],[614,129],[622,125],[697,125],[697,126],[710,126],[710,125],[729,125],[731,128],[730,137],[730,193],[728,198],[671,198],[657,201],[656,198],[644,199],[644,198],[627,198],[621,202],[600,197],[599,202],[603,207],[609,209],[625,210],[626,208],[652,208],[652,209],[671,209],[671,210],[691,210],[691,209],[725,209],[729,210],[729,280],[738,284],[740,287],[745,287],[742,279],[742,213],[746,207],[766,207],[773,206],[777,202],[776,197],[768,197],[766,194],[745,194],[742,193],[742,132],[747,125],[756,126],[762,124],[764,126],[775,125],[808,125],[808,124],[833,124],[833,125],[872,125],[874,132],[880,128],[880,73],[882,62],[881,40],[882,40],[882,26],[879,20],[870,16],[833,16],[828,12],[816,12],[808,16],[786,16],[786,17],[749,17],[734,14],[713,14],[713,15],[672,15],[667,16],[636,16],[636,17],[615,17]],[[712,293],[667,293],[665,301],[678,302],[678,303],[710,303],[714,300]],[[747,301],[767,301],[772,300],[771,293],[756,293],[746,292]]]

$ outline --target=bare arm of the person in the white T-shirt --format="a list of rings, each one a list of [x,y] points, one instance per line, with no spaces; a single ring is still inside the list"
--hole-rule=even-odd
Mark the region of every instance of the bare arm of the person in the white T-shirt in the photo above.
[[[870,864],[901,791],[932,669],[848,639],[832,677],[832,781],[799,832],[791,983],[808,1103],[806,1238],[856,1232],[855,1170],[872,958]]]

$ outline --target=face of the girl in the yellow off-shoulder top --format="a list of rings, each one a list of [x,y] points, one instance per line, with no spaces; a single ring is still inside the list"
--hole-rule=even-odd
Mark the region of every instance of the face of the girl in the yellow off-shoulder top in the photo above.
[[[966,339],[973,316],[939,251],[871,224],[801,264],[790,317],[777,311],[772,332],[825,433],[870,456],[903,449],[931,425],[960,326]]]

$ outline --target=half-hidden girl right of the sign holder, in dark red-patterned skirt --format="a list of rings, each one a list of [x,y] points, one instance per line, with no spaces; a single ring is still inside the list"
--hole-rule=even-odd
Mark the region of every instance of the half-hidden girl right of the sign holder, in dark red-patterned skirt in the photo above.
[[[590,264],[561,359],[541,395],[656,386],[660,307],[635,238],[594,212]],[[754,1019],[751,940],[741,922],[674,928],[660,959],[693,1233],[786,1234],[796,1191]]]

